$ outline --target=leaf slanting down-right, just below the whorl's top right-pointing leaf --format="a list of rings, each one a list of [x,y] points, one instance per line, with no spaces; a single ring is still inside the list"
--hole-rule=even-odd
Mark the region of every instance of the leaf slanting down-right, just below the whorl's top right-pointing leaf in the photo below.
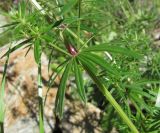
[[[107,63],[107,61],[105,61],[102,57],[92,54],[92,53],[81,53],[79,56],[84,57],[86,60],[90,60],[92,62],[94,62],[95,64],[101,66],[102,68],[104,68],[107,72],[109,72],[110,74],[113,74],[115,76],[120,76],[119,72],[117,71],[117,69],[113,68],[113,66],[111,66],[109,63]]]

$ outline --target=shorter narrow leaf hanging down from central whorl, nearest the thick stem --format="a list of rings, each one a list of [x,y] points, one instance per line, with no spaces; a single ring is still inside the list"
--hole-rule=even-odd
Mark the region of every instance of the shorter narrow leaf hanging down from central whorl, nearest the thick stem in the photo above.
[[[78,94],[81,98],[81,100],[86,103],[86,93],[83,85],[83,78],[82,78],[82,71],[80,70],[76,60],[74,60],[74,73],[75,73],[75,80],[76,80],[76,85],[78,89]]]

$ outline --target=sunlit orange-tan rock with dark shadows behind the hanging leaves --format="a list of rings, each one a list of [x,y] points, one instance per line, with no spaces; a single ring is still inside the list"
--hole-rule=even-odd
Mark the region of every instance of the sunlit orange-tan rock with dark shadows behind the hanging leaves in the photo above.
[[[8,50],[8,45],[0,48],[0,57]],[[5,133],[38,133],[37,64],[31,49],[19,49],[10,55],[7,68],[5,93]],[[0,82],[5,58],[0,60]],[[48,60],[42,54],[43,95],[46,95],[49,74]],[[59,84],[60,78],[56,79]],[[101,133],[100,109],[87,103],[65,99],[64,118],[59,122],[54,115],[57,88],[51,88],[44,108],[45,133]]]

